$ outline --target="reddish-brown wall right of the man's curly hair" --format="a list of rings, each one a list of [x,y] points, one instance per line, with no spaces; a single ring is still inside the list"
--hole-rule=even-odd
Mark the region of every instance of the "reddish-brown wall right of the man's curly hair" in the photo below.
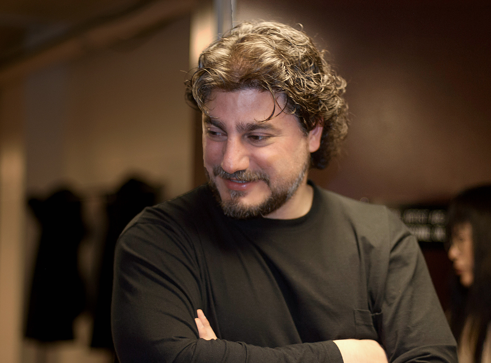
[[[491,182],[489,24],[478,6],[238,1],[235,20],[301,23],[347,79],[345,154],[320,185],[377,202]]]

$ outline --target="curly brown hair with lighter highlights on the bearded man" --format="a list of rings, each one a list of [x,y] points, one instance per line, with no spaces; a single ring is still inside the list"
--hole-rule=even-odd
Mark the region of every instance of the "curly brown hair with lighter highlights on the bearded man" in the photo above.
[[[321,146],[311,153],[311,166],[324,169],[348,133],[345,87],[324,51],[303,31],[279,23],[244,22],[201,53],[196,72],[186,81],[186,97],[207,113],[205,104],[215,89],[254,88],[269,91],[273,99],[285,95],[283,111],[297,116],[305,134],[323,122]],[[273,115],[274,109],[267,120]]]

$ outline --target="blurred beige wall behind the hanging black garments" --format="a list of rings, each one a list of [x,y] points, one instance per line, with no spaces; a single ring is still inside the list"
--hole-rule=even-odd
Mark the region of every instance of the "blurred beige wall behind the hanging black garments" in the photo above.
[[[26,193],[47,196],[69,186],[84,198],[90,234],[81,245],[81,269],[91,282],[104,234],[104,194],[135,174],[163,186],[164,198],[191,189],[194,128],[183,83],[189,42],[186,16],[141,39],[32,73],[21,86]],[[30,213],[26,235],[27,301],[39,236]],[[75,333],[75,343],[40,348],[27,342],[22,361],[110,360],[104,351],[89,351],[87,316],[77,320]]]

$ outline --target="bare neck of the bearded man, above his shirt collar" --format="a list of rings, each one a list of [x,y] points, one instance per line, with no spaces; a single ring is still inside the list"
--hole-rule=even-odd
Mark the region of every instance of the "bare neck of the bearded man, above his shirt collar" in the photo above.
[[[312,207],[314,188],[307,184],[307,177],[300,184],[297,191],[285,204],[274,212],[264,216],[271,219],[295,219],[305,216]]]

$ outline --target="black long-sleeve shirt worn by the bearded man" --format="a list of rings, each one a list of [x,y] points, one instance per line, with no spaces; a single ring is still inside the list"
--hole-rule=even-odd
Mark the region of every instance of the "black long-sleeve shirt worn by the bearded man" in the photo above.
[[[197,309],[217,340],[198,339]],[[341,363],[332,340],[349,338],[391,363],[457,362],[403,223],[316,186],[290,220],[228,218],[206,185],[145,209],[116,247],[112,332],[122,363]]]

